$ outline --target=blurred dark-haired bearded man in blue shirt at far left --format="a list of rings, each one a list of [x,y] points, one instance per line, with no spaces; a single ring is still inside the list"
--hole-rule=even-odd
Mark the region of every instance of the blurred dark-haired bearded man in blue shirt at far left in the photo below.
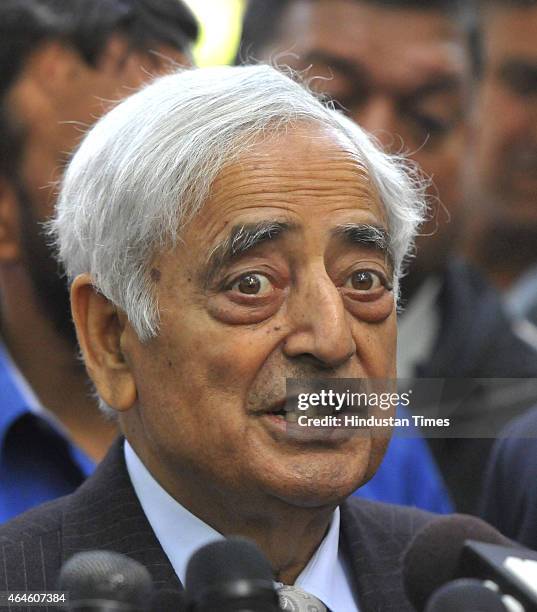
[[[190,65],[197,31],[177,0],[0,5],[0,521],[76,488],[116,435],[77,358],[42,223],[84,130]]]

